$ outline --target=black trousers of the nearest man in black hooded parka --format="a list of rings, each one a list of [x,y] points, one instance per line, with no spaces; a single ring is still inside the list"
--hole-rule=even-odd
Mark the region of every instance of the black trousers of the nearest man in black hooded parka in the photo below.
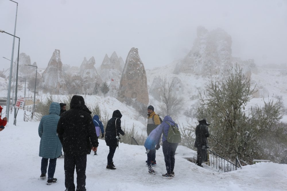
[[[67,190],[75,190],[74,172],[77,173],[77,190],[86,191],[86,166],[87,155],[72,156],[66,155],[64,158],[65,187]]]

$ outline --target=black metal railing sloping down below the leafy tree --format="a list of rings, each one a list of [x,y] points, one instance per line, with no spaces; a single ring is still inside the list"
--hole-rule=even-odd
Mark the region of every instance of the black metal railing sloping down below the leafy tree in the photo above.
[[[227,159],[225,159],[224,157],[218,155],[216,152],[208,149],[211,153],[211,155],[213,155],[213,158],[210,156],[210,166],[212,167],[213,164],[213,168],[219,169],[223,172],[229,172],[229,171],[233,171],[233,170],[237,170],[237,168],[241,168],[239,167],[237,164],[234,164],[230,161],[228,161]]]

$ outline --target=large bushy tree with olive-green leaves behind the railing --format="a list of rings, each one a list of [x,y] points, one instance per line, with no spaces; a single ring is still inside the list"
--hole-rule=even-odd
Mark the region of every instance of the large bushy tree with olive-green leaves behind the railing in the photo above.
[[[204,94],[200,94],[198,118],[210,121],[210,146],[223,157],[238,156],[248,162],[270,158],[264,140],[272,135],[268,142],[275,144],[274,137],[281,131],[276,123],[282,118],[282,105],[268,99],[264,107],[247,111],[246,105],[255,92],[250,78],[236,65],[221,80],[211,76]]]

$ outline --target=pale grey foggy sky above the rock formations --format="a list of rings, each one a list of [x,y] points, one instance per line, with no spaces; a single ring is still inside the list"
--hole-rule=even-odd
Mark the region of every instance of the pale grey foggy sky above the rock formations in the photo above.
[[[63,64],[80,66],[94,56],[95,67],[116,51],[126,60],[138,48],[146,69],[183,58],[199,25],[232,37],[232,56],[255,64],[287,63],[287,1],[96,1],[15,0],[20,53],[46,68],[55,49]],[[0,0],[0,29],[14,33],[16,3]],[[7,69],[13,37],[0,33],[0,69]],[[15,39],[14,59],[18,39]]]

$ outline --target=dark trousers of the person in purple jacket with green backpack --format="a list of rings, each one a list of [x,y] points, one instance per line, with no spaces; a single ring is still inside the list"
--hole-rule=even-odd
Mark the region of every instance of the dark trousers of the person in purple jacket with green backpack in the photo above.
[[[174,163],[175,163],[175,151],[177,150],[178,143],[169,143],[164,141],[162,143],[162,152],[164,155],[164,162],[166,166],[167,174],[174,171]]]

